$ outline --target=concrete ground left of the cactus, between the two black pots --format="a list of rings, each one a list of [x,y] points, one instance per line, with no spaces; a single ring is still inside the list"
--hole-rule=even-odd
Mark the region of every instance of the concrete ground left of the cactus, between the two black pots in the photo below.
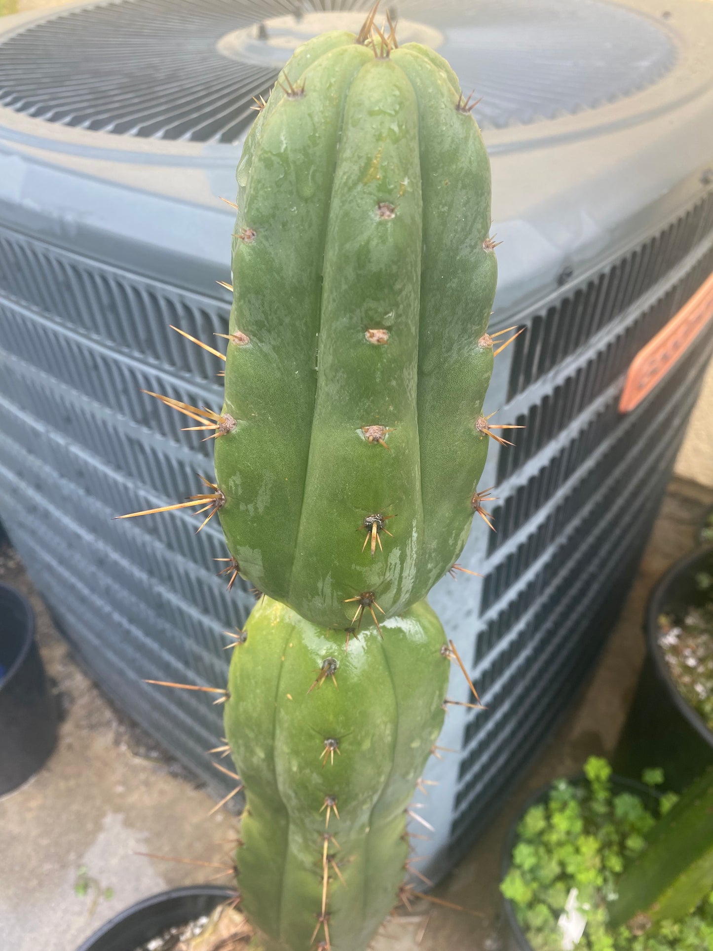
[[[126,905],[220,871],[135,853],[225,864],[229,846],[218,840],[234,833],[236,821],[223,809],[208,817],[214,799],[76,666],[9,548],[0,551],[0,579],[36,611],[40,650],[64,711],[47,766],[0,800],[0,949],[74,951]],[[74,886],[84,877],[90,884],[80,897]],[[106,889],[112,897],[99,897]]]

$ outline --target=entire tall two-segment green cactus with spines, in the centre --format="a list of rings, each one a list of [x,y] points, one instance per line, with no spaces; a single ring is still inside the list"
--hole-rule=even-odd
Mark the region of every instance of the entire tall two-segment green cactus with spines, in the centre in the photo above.
[[[237,769],[221,767],[237,784],[223,802],[245,788],[236,865],[260,951],[363,951],[409,876],[428,883],[409,858],[408,819],[431,828],[414,791],[448,706],[481,707],[424,598],[473,573],[456,559],[474,514],[493,528],[488,444],[520,428],[483,416],[517,334],[487,332],[496,243],[471,97],[375,11],[297,49],[257,104],[228,202],[226,352],[175,328],[224,359],[220,412],[147,394],[212,440],[215,482],[174,507],[217,514],[220,573],[260,593],[226,631],[214,750]],[[447,699],[451,662],[472,703]]]

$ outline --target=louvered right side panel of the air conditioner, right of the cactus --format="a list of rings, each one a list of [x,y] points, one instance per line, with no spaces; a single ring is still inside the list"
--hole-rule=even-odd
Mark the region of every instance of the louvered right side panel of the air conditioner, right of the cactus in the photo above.
[[[484,574],[478,617],[469,617],[469,626],[471,675],[487,710],[473,712],[463,728],[448,862],[462,853],[556,726],[636,573],[713,351],[713,325],[636,411],[622,417],[617,404],[633,353],[713,272],[713,216],[697,237],[687,258],[631,301],[628,320],[617,324],[616,346],[603,333],[570,352],[569,362],[579,357],[584,367],[597,366],[604,354],[617,355],[618,373],[592,375],[591,399],[560,427],[559,440],[553,443],[543,431],[530,463],[495,490],[500,504],[491,511],[498,531],[489,536],[484,560],[461,559]],[[563,294],[563,304],[577,293]],[[666,301],[663,319],[659,301]],[[525,347],[531,320],[524,318]],[[632,327],[636,348],[620,362]],[[556,405],[557,387],[545,394],[543,399],[539,383],[530,384],[504,413],[511,418],[516,405],[534,400]],[[499,469],[512,452],[500,450]]]

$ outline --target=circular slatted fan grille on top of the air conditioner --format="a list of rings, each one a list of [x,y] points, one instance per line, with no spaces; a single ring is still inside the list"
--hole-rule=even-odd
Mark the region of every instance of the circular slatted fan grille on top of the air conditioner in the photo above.
[[[0,102],[118,135],[236,142],[254,115],[252,97],[267,96],[278,78],[280,54],[277,63],[275,49],[263,62],[255,55],[261,39],[270,44],[264,27],[243,59],[222,55],[222,38],[297,12],[303,39],[305,12],[368,5],[299,2],[124,0],[54,15],[0,45]],[[664,29],[590,0],[407,0],[389,10],[442,37],[438,51],[465,92],[482,97],[475,116],[484,127],[612,102],[655,83],[676,56]],[[283,61],[290,43],[280,42]]]

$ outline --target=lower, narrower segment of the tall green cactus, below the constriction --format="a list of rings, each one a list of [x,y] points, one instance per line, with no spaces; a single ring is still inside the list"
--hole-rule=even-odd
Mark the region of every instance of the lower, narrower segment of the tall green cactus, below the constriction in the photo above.
[[[331,946],[362,951],[397,900],[450,662],[425,602],[382,631],[365,627],[345,651],[343,632],[265,598],[233,651],[225,736],[247,790],[238,882],[264,951],[324,941],[323,896]]]

